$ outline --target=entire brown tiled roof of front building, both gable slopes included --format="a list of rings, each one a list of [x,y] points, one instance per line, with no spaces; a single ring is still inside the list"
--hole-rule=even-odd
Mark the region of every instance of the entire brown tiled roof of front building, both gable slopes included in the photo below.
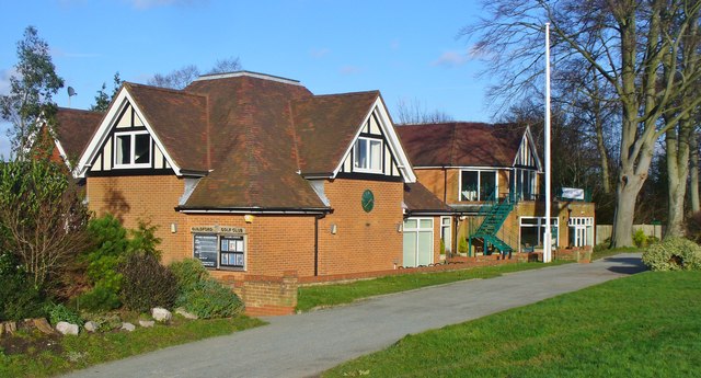
[[[208,173],[181,206],[192,210],[327,209],[303,173],[333,172],[380,98],[315,96],[254,72],[202,77],[182,91],[125,89],[181,172]]]

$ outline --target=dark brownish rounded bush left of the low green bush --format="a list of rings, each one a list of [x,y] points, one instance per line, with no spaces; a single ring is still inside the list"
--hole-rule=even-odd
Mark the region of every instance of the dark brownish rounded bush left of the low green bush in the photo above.
[[[131,254],[119,265],[124,280],[120,299],[129,310],[146,312],[153,307],[173,308],[177,278],[153,254]]]

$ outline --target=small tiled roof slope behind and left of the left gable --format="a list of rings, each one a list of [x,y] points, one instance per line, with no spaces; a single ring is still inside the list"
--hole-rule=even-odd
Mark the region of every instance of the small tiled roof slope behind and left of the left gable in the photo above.
[[[66,107],[58,110],[54,130],[69,161],[78,161],[104,115]]]

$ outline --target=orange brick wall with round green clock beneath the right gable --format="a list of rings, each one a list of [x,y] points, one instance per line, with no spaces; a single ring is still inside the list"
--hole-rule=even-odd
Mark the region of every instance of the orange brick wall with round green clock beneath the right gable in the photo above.
[[[369,188],[375,208],[363,210],[360,198]],[[403,222],[401,182],[337,179],[324,185],[334,211],[319,220],[319,274],[382,271],[402,264]],[[331,233],[336,225],[336,233]],[[303,274],[300,272],[300,276]]]

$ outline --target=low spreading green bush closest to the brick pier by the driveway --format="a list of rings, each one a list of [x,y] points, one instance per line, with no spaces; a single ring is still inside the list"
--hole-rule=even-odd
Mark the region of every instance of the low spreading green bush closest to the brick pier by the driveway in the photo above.
[[[208,278],[181,294],[177,306],[202,319],[229,318],[243,311],[243,302],[231,289]]]

